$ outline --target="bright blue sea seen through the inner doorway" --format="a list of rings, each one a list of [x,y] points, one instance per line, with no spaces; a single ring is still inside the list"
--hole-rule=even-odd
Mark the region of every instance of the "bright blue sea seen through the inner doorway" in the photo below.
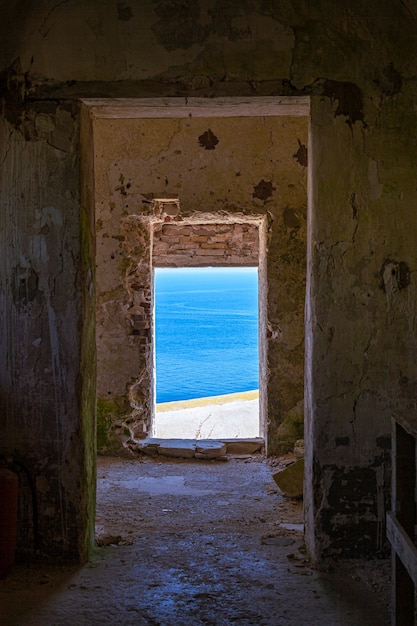
[[[257,268],[155,270],[156,402],[258,389]]]

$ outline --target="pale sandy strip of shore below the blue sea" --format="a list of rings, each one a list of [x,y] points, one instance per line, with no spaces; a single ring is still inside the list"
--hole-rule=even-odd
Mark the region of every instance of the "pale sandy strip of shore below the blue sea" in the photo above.
[[[157,404],[153,436],[166,439],[259,437],[259,392]]]

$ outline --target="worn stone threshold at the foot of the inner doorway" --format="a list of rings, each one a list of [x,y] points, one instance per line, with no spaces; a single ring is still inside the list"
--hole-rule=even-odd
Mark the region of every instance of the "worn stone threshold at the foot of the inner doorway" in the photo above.
[[[256,454],[262,452],[264,440],[253,439],[158,439],[147,437],[136,441],[137,450],[150,456],[167,456],[185,459],[220,459],[227,455]]]

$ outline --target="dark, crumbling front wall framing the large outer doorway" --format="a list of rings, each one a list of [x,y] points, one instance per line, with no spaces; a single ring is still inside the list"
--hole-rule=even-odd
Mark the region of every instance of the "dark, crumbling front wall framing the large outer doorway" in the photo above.
[[[416,406],[416,19],[402,0],[3,7],[1,445],[37,478],[44,553],[86,527],[70,103],[97,96],[311,97],[307,541],[381,547],[390,415]]]

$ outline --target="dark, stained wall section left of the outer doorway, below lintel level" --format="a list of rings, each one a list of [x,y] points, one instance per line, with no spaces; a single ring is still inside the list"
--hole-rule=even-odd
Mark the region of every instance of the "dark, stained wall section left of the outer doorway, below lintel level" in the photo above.
[[[19,551],[67,560],[86,536],[79,144],[77,107],[51,108],[18,131],[1,119],[0,454],[21,479]]]

